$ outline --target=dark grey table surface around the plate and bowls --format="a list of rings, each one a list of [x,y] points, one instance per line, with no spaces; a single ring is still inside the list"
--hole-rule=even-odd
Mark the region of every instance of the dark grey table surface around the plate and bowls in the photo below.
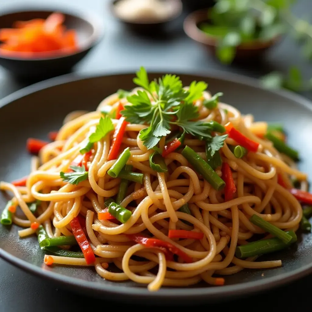
[[[104,40],[76,66],[75,71],[81,75],[105,74],[114,71],[129,72],[138,69],[139,66],[145,66],[148,70],[171,72],[192,70],[194,73],[206,71],[207,74],[212,69],[217,69],[258,78],[271,70],[286,71],[289,64],[295,64],[300,67],[306,78],[311,77],[312,66],[302,60],[298,46],[290,38],[285,38],[278,46],[269,51],[265,61],[260,64],[245,67],[223,66],[212,56],[208,56],[202,47],[197,46],[183,33],[183,17],[172,25],[171,32],[166,38],[152,40],[134,35],[116,21],[108,10],[109,0],[49,0],[45,2],[41,0],[0,0],[0,12],[20,5],[25,6],[28,3],[41,7],[72,7],[76,10],[89,10],[102,17],[105,24]],[[295,13],[307,15],[312,12],[311,9],[311,0],[299,0],[295,6]],[[9,73],[0,68],[0,98],[28,84],[15,81]],[[312,99],[311,93],[304,95]],[[294,307],[300,309],[301,306],[309,305],[310,283],[312,283],[312,276],[307,276],[295,283],[269,290],[263,294],[224,303],[222,308],[226,309],[237,305],[247,308],[255,307],[256,303],[259,308],[278,305],[280,310],[288,311]],[[25,273],[0,259],[0,311],[57,310],[62,312],[68,309],[82,311],[84,310],[82,307],[84,301],[88,302],[89,298],[76,295],[69,289],[64,290],[59,285],[51,284],[50,281]],[[120,302],[119,307],[121,307]],[[109,302],[99,303],[93,301],[90,307],[105,309],[107,305],[111,304]],[[217,305],[207,307],[213,308]]]

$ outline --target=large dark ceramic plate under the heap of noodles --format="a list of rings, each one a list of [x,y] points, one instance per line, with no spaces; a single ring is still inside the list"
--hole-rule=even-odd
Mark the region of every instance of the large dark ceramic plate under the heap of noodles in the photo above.
[[[150,75],[150,79],[162,73]],[[47,80],[9,95],[0,101],[0,180],[12,181],[29,173],[30,155],[25,149],[28,137],[46,139],[49,131],[58,129],[64,116],[72,110],[95,110],[100,101],[117,89],[132,88],[133,74],[102,77],[63,76]],[[290,144],[300,150],[300,169],[312,175],[312,103],[289,92],[261,89],[257,81],[225,73],[207,76],[181,74],[185,85],[193,80],[205,80],[212,93],[222,91],[223,100],[242,113],[252,113],[256,120],[282,122],[289,134]],[[294,125],[300,125],[294,127]],[[1,210],[7,197],[0,194]],[[130,281],[103,280],[93,268],[43,265],[43,253],[35,236],[19,239],[17,226],[0,226],[0,256],[60,286],[112,300],[136,303],[194,304],[225,300],[246,295],[298,279],[312,272],[312,234],[299,234],[299,241],[290,249],[262,259],[281,259],[276,269],[245,270],[226,277],[226,286],[205,284],[190,288],[162,288],[150,293],[145,285]]]

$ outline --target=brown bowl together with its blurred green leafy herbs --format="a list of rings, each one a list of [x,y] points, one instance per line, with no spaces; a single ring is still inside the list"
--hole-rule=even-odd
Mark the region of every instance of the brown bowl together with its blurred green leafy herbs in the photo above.
[[[222,63],[261,58],[285,32],[278,7],[261,0],[217,0],[211,9],[188,15],[183,28]]]

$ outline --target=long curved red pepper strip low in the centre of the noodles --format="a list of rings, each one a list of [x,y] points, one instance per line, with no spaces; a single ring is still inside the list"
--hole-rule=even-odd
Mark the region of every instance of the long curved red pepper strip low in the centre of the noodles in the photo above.
[[[192,258],[188,256],[184,251],[168,243],[167,241],[162,241],[157,238],[144,237],[140,234],[127,234],[127,237],[131,241],[135,241],[136,243],[144,245],[147,248],[165,248],[166,250],[171,251],[175,255],[180,256],[185,262],[188,262],[188,263],[193,262]]]

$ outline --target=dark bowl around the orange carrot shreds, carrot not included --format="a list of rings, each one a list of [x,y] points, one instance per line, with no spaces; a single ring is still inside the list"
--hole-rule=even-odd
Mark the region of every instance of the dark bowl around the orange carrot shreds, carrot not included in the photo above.
[[[51,56],[38,52],[34,57],[23,56],[23,52],[16,52],[16,56],[0,54],[0,65],[16,78],[42,80],[68,73],[102,38],[103,27],[96,16],[72,14],[57,9],[25,9],[20,12],[2,13],[0,28],[11,28],[13,22],[16,21],[28,21],[34,18],[46,19],[53,12],[64,14],[66,28],[76,30],[79,50],[68,54],[65,52],[64,54],[51,54]]]

